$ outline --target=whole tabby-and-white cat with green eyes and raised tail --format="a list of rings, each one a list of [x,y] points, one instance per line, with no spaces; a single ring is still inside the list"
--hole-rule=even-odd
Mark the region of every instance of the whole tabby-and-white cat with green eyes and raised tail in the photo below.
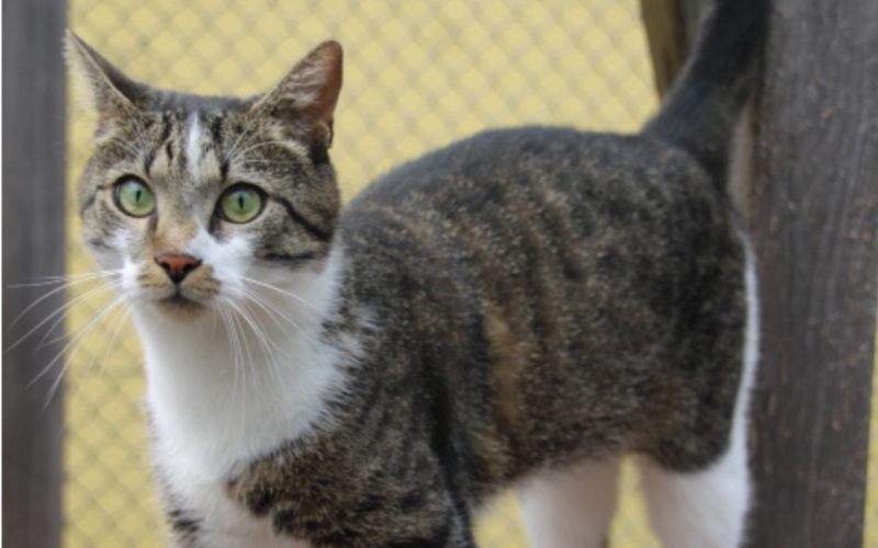
[[[337,43],[238,99],[68,32],[85,242],[143,341],[176,546],[474,547],[509,487],[532,546],[603,546],[628,454],[665,546],[740,546],[757,304],[725,186],[767,12],[708,2],[639,135],[487,130],[344,208]]]

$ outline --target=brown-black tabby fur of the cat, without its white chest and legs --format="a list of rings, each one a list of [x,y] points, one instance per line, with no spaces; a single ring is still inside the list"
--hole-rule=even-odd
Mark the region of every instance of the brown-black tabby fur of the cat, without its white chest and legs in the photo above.
[[[485,132],[385,174],[344,210],[327,152],[337,44],[269,94],[229,99],[133,82],[71,38],[100,115],[80,183],[97,255],[146,264],[183,252],[202,215],[217,246],[247,235],[255,264],[290,276],[323,272],[330,251],[344,258],[320,328],[345,356],[330,419],[229,470],[216,496],[313,547],[463,548],[475,546],[473,510],[537,472],[634,453],[701,478],[733,454],[752,311],[725,185],[767,3],[709,11],[640,135]],[[169,196],[136,230],[106,198],[132,173]],[[238,182],[269,201],[249,225],[211,216],[213,196]],[[204,321],[224,290],[217,266],[181,285],[185,312],[164,313]],[[143,288],[167,290],[160,270],[144,269]],[[162,477],[179,546],[206,546],[225,524]],[[745,491],[745,470],[738,480]],[[720,545],[739,541],[730,535]]]

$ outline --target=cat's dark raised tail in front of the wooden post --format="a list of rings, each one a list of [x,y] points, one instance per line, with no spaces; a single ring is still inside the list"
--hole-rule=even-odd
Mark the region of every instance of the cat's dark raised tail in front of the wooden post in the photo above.
[[[707,0],[693,53],[649,136],[688,150],[718,184],[725,175],[734,128],[758,81],[769,0]]]

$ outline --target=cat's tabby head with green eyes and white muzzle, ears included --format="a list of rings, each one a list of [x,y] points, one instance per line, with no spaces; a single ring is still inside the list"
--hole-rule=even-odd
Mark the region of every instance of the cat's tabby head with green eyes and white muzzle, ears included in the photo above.
[[[193,318],[248,279],[324,267],[339,210],[337,43],[250,99],[135,82],[70,32],[67,58],[98,115],[78,186],[86,244],[120,269],[130,300]]]

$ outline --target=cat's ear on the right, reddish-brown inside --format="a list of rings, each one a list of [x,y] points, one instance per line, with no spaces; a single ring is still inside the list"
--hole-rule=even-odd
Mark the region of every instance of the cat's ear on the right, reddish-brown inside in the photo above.
[[[291,124],[312,144],[329,148],[333,116],[341,91],[342,50],[338,42],[324,42],[299,61],[283,80],[251,106]]]

